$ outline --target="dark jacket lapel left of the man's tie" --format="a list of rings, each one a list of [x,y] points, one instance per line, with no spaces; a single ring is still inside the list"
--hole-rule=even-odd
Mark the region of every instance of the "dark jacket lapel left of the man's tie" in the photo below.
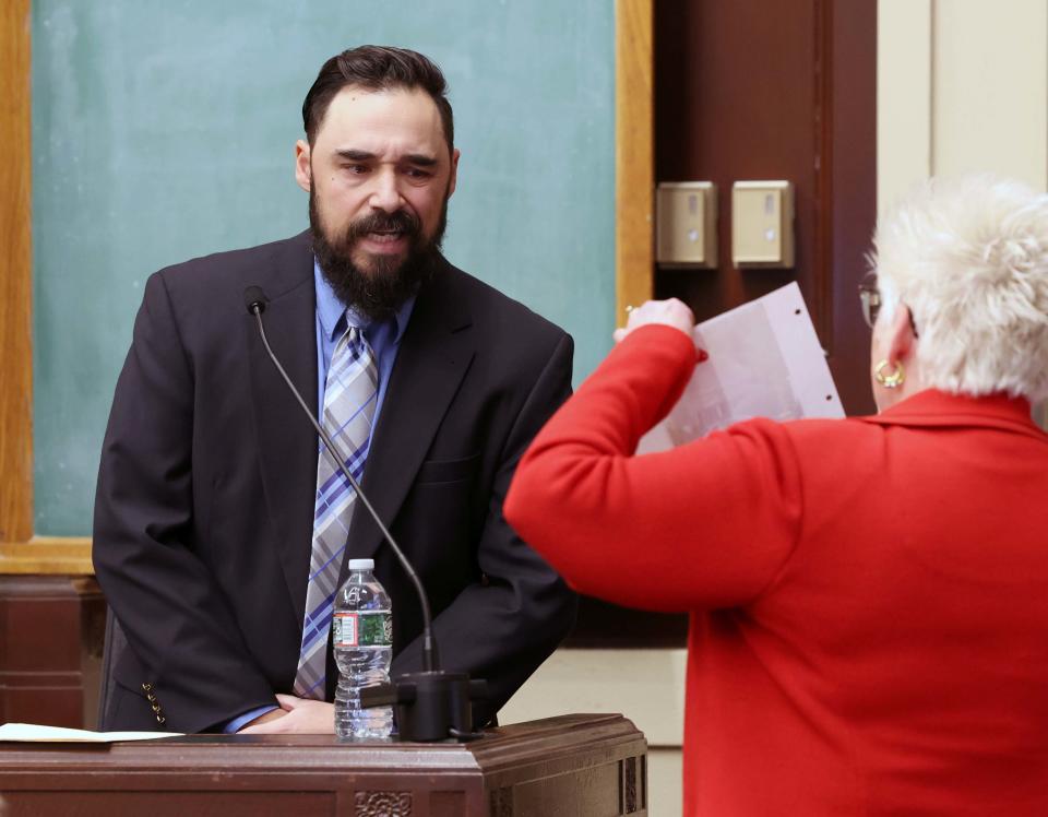
[[[308,244],[293,239],[289,245],[289,254],[277,260],[282,269],[276,271],[276,280],[260,274],[259,283],[269,287],[270,297],[262,317],[273,352],[315,416],[313,257]],[[253,316],[245,316],[245,331],[265,504],[276,532],[291,604],[301,620],[317,494],[317,433],[266,354]]]

